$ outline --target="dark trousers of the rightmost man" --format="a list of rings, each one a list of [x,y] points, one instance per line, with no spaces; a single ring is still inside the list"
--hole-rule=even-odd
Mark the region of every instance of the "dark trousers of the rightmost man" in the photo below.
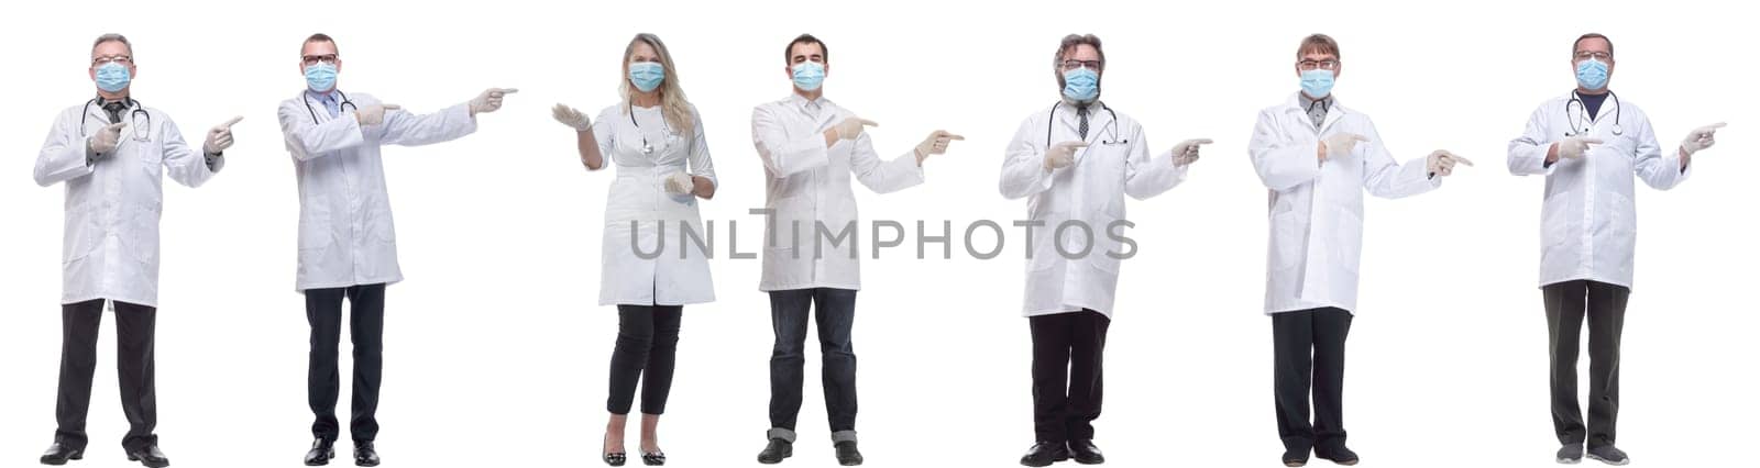
[[[1552,354],[1552,429],[1559,443],[1614,445],[1619,419],[1619,334],[1632,290],[1598,282],[1563,282],[1545,296],[1547,348]],[[1577,406],[1577,350],[1589,322],[1589,426]]]

